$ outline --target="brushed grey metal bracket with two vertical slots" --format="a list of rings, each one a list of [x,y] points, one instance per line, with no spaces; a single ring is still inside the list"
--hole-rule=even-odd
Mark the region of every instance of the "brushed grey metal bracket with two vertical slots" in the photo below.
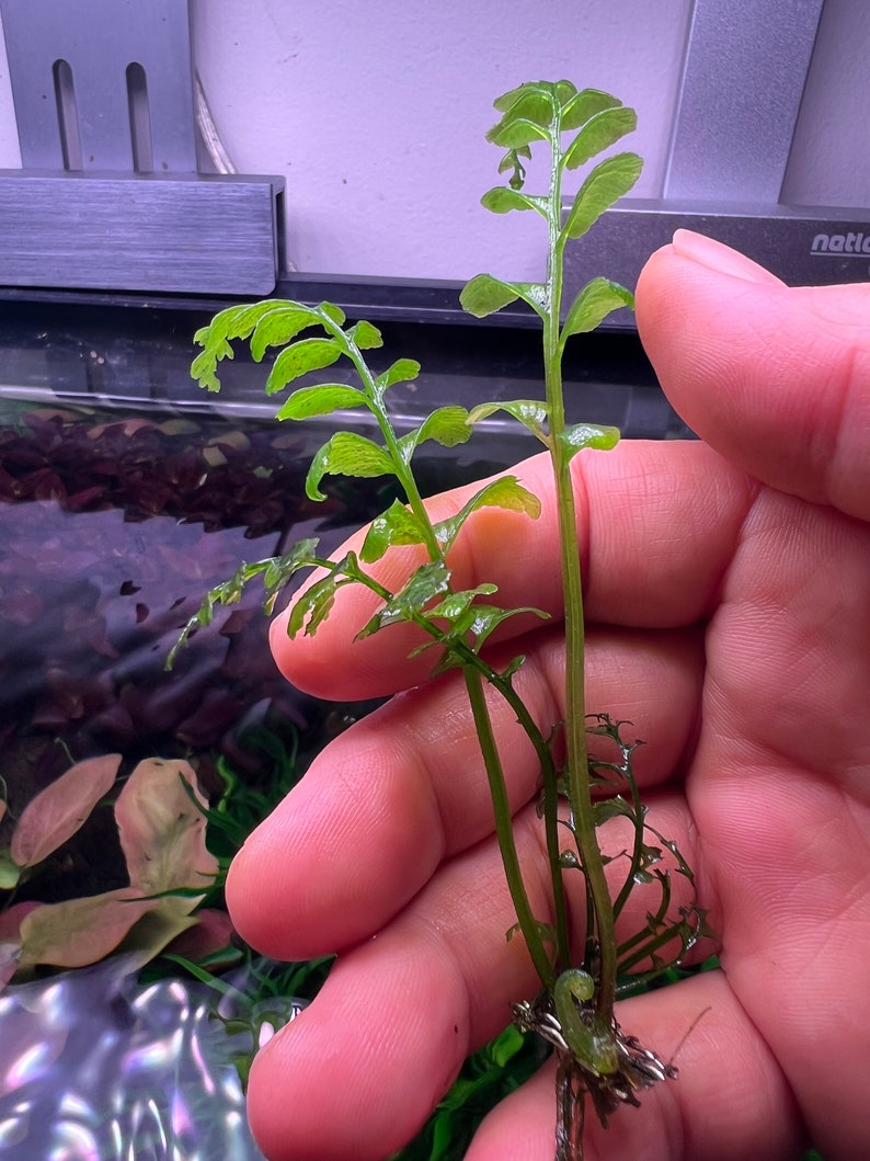
[[[22,170],[0,281],[269,294],[284,181],[197,173],[188,0],[0,0]]]

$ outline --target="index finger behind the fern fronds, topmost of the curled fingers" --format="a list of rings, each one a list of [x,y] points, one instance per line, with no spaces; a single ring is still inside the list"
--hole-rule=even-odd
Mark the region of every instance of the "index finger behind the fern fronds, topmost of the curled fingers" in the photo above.
[[[534,456],[515,469],[542,503],[537,520],[501,509],[476,512],[451,554],[457,589],[498,585],[503,608],[535,606],[563,613],[558,520],[549,457]],[[429,502],[435,519],[458,511],[480,484]],[[628,628],[675,628],[704,616],[715,603],[754,485],[703,444],[631,441],[612,452],[574,460],[574,486],[582,554],[586,616]],[[339,553],[357,548],[357,533]],[[394,548],[378,562],[378,579],[401,585],[422,563],[416,548]],[[317,636],[287,635],[287,613],[271,628],[278,668],[293,685],[332,700],[379,697],[425,680],[429,651],[409,658],[422,640],[413,626],[355,641],[377,598],[361,585],[342,589]],[[506,622],[519,635],[529,618]],[[503,636],[502,636],[503,640]]]

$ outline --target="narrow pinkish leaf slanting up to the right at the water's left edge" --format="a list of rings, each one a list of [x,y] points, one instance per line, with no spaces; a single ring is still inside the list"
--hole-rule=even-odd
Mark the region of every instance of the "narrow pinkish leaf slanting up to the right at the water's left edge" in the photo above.
[[[20,867],[35,866],[72,838],[114,786],[119,766],[119,753],[88,758],[32,798],[12,836],[13,861]]]

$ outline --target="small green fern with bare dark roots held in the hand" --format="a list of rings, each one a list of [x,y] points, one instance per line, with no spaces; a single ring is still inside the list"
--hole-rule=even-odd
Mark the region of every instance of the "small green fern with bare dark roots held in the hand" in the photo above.
[[[391,418],[391,388],[412,381],[420,365],[408,358],[380,359],[382,336],[371,323],[348,323],[328,302],[266,301],[220,311],[196,334],[202,353],[193,365],[201,385],[218,390],[220,360],[232,358],[234,340],[249,344],[255,360],[276,352],[266,378],[266,392],[277,402],[278,420],[304,420],[365,410],[377,438],[338,425],[316,454],[306,479],[311,499],[324,499],[329,475],[387,476],[400,485],[404,502],[394,500],[370,525],[358,551],[335,558],[304,540],[270,560],[242,564],[235,576],[204,599],[188,622],[182,641],[206,625],[217,604],[237,600],[247,582],[260,577],[264,607],[271,612],[282,590],[302,569],[318,577],[296,596],[288,623],[291,636],[314,634],[329,615],[336,593],[363,585],[378,607],[360,637],[413,623],[420,632],[415,652],[432,656],[432,675],[462,673],[473,714],[492,793],[495,832],[516,911],[508,938],[521,938],[539,976],[532,998],[519,998],[514,1019],[537,1033],[557,1058],[556,1156],[575,1161],[582,1155],[587,1096],[603,1123],[622,1104],[637,1104],[651,1086],[676,1076],[675,1068],[619,1027],[615,1002],[623,988],[636,988],[679,965],[705,933],[697,907],[672,901],[673,875],[691,881],[679,850],[646,820],[629,741],[628,723],[606,713],[588,715],[583,701],[583,607],[572,461],[579,454],[611,448],[618,432],[566,420],[561,362],[573,336],[594,330],[611,311],[632,305],[631,293],[606,277],[593,277],[564,301],[566,247],[581,238],[617,199],[635,185],[641,168],[632,152],[611,151],[636,127],[636,114],[616,98],[596,89],[579,91],[570,81],[532,82],[512,89],[495,102],[498,123],[487,140],[502,151],[503,185],[491,189],[483,204],[495,214],[537,214],[546,237],[546,273],[541,282],[508,282],[480,274],[462,294],[464,308],[483,317],[522,300],[538,316],[543,332],[544,392],[542,398],[507,403],[480,402],[471,409],[451,404],[436,409],[419,426],[398,431]],[[546,190],[525,189],[525,163],[541,152],[548,166]],[[609,151],[602,160],[599,154]],[[564,183],[581,170],[579,190],[565,205]],[[326,368],[345,372],[329,381]],[[317,382],[305,378],[313,373]],[[324,381],[326,380],[326,381]],[[302,381],[302,382],[300,382]],[[506,608],[494,584],[457,589],[451,554],[463,529],[485,507],[508,509],[535,519],[537,496],[512,474],[480,485],[455,515],[433,520],[414,475],[414,456],[427,440],[445,447],[464,444],[474,426],[503,411],[523,424],[546,448],[559,512],[560,561],[565,598],[565,720],[536,721],[515,683],[523,657],[496,666],[490,659],[491,635],[508,618],[544,613]],[[387,589],[378,579],[378,562],[393,546],[413,545],[420,563],[404,583]],[[488,694],[488,695],[487,695]],[[534,747],[541,766],[538,813],[545,835],[552,896],[552,920],[534,911],[514,838],[502,756],[491,722],[491,698],[502,698]],[[619,856],[607,857],[601,830],[619,820],[630,839]],[[609,866],[608,866],[609,864]],[[567,906],[568,877],[580,877],[586,920],[573,930]],[[625,933],[626,904],[636,889],[644,895],[645,921]],[[654,894],[651,896],[650,892]],[[654,899],[653,906],[650,900]],[[622,923],[619,920],[622,918]],[[618,924],[618,925],[617,925]],[[507,1016],[507,1014],[506,1014]]]

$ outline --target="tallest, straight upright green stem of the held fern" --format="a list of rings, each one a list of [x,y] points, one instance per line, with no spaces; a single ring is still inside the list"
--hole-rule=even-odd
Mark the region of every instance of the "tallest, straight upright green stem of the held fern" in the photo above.
[[[561,381],[560,325],[566,237],[561,231],[561,124],[554,109],[551,138],[551,167],[548,224],[550,231],[544,323],[544,367],[550,423],[550,454],[559,517],[559,546],[565,603],[565,740],[567,749],[567,792],[578,853],[594,911],[599,971],[595,1007],[601,1026],[609,1026],[616,998],[616,936],[614,908],[599,850],[589,784],[589,757],[586,745],[585,625],[580,577],[580,546],[577,510],[571,479],[571,448],[560,437],[565,432],[565,401]]]

